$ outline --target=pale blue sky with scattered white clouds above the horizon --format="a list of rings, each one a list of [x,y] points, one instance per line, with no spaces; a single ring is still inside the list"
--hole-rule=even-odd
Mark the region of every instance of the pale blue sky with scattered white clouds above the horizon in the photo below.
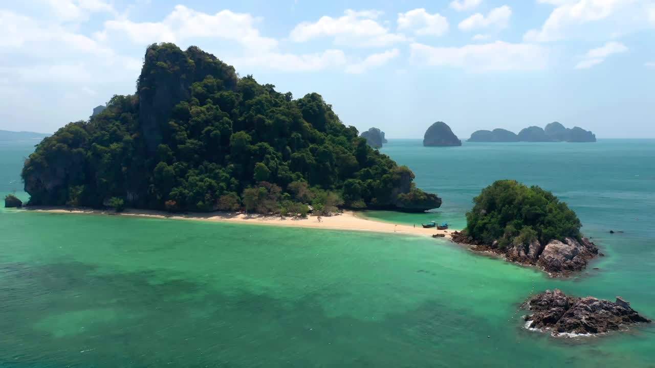
[[[0,1],[0,129],[51,133],[196,45],[346,125],[655,138],[655,0]]]

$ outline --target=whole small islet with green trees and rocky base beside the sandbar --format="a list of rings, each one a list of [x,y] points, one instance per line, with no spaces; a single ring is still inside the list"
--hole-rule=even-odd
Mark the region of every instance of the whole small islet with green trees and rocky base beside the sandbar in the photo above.
[[[551,276],[568,276],[603,255],[582,236],[581,226],[569,206],[552,193],[499,180],[474,198],[466,229],[453,232],[453,241],[539,267]]]

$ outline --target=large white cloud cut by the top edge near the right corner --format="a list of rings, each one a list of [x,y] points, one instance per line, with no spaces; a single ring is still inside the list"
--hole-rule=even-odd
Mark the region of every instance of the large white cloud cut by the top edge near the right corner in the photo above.
[[[541,29],[531,29],[523,35],[527,42],[550,42],[565,37],[565,29],[571,25],[603,20],[637,4],[638,0],[538,0],[555,5]]]

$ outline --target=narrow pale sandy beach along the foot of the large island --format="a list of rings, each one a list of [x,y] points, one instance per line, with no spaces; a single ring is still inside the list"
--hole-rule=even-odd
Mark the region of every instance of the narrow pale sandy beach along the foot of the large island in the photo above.
[[[352,231],[372,231],[372,232],[388,232],[396,234],[413,234],[421,236],[431,236],[432,234],[445,234],[446,238],[451,238],[451,232],[456,229],[437,230],[437,229],[423,229],[421,224],[417,227],[411,225],[402,225],[394,223],[385,223],[382,221],[375,221],[357,215],[351,211],[345,211],[339,215],[322,216],[321,221],[318,222],[318,217],[308,216],[306,218],[293,218],[293,217],[280,217],[272,215],[257,215],[250,213],[225,213],[225,212],[212,212],[212,213],[168,213],[153,210],[134,210],[126,209],[124,212],[115,213],[113,211],[105,210],[86,210],[86,209],[69,209],[69,208],[50,208],[50,207],[33,207],[26,208],[29,211],[37,212],[52,212],[52,213],[91,213],[103,215],[121,215],[121,216],[140,216],[140,217],[156,217],[160,219],[180,219],[180,220],[195,220],[195,221],[217,221],[226,223],[250,223],[257,225],[271,225],[271,226],[288,226],[288,227],[310,227],[316,229],[332,229],[332,230],[352,230]]]

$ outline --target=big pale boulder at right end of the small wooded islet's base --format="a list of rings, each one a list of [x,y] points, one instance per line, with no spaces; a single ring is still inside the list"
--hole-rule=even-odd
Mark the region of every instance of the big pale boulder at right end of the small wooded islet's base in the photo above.
[[[587,238],[582,238],[582,244],[572,238],[566,238],[565,242],[552,240],[546,244],[537,264],[547,272],[580,271],[597,254],[598,248]]]

